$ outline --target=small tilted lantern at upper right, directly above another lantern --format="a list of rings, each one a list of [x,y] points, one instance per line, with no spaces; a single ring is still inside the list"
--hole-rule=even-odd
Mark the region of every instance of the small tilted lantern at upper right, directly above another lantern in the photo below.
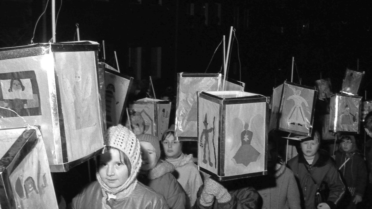
[[[345,77],[342,81],[341,93],[358,95],[360,83],[362,83],[363,76],[364,71],[359,72],[347,68],[345,72]]]

